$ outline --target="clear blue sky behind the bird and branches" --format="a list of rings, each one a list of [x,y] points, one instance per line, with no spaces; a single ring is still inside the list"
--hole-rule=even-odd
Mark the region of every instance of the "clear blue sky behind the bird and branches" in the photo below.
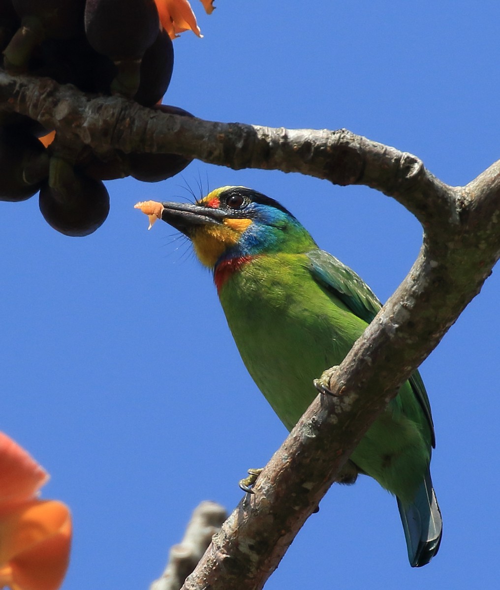
[[[204,119],[338,129],[415,153],[452,185],[499,157],[497,2],[215,2],[175,41],[164,102]],[[37,198],[2,203],[0,429],[71,507],[64,588],[146,588],[194,507],[232,510],[248,467],[286,436],[244,369],[208,271],[184,238],[133,209],[227,184],[281,201],[385,300],[421,228],[362,186],[193,162],[157,184],[107,183],[86,238],[52,230]],[[396,500],[367,477],[334,486],[266,588],[495,588],[500,411],[494,273],[424,362],[444,521],[430,565],[407,563]]]

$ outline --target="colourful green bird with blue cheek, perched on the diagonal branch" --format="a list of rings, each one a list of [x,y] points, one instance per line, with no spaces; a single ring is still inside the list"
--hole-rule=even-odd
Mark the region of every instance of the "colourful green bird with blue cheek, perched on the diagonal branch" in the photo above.
[[[259,192],[223,186],[195,204],[159,207],[157,217],[187,235],[213,270],[241,358],[291,430],[317,394],[314,379],[341,363],[380,301],[354,271],[319,250],[285,207]],[[413,567],[429,563],[442,536],[432,447],[429,398],[415,372],[355,448],[345,475],[354,481],[367,474],[396,496]]]

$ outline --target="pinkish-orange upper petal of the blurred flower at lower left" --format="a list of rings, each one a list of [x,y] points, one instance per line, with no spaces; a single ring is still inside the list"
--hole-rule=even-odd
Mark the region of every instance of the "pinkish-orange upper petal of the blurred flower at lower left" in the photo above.
[[[5,504],[31,499],[47,480],[47,471],[0,432],[0,509]]]

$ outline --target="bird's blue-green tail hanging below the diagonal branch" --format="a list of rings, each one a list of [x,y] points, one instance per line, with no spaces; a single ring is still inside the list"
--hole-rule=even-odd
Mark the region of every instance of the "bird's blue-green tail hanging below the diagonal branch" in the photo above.
[[[426,476],[412,504],[403,504],[398,498],[397,505],[403,522],[408,558],[412,568],[420,568],[436,555],[443,533],[441,512],[432,487],[430,471]]]

